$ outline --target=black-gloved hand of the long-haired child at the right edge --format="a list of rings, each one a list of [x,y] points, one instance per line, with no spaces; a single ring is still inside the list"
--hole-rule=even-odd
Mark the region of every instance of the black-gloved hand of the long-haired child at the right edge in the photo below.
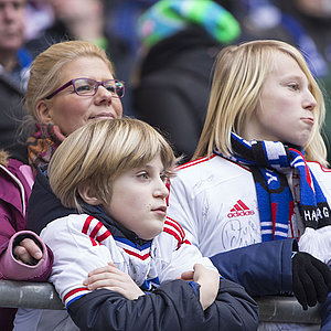
[[[303,310],[323,303],[331,290],[331,270],[312,255],[298,252],[292,258],[293,293]]]

